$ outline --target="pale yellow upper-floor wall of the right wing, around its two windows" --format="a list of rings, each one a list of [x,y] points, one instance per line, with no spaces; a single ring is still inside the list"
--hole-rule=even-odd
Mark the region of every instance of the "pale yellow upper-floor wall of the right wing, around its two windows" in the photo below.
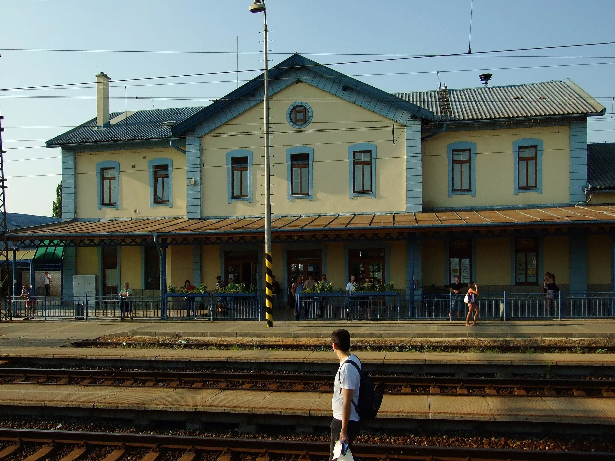
[[[535,205],[569,202],[568,125],[557,127],[509,128],[444,132],[423,143],[423,207],[484,207],[496,205]],[[542,154],[542,194],[514,194],[513,143],[522,138],[538,138]],[[476,144],[476,196],[448,196],[448,157],[446,146],[457,141]]]

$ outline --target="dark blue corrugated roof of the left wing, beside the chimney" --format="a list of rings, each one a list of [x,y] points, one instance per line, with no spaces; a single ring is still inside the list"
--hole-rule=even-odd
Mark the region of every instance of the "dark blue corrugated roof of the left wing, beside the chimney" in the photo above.
[[[67,144],[109,143],[113,141],[141,141],[170,138],[173,125],[188,119],[203,107],[177,109],[149,109],[147,111],[113,112],[109,116],[110,124],[97,129],[96,119],[89,120],[54,139],[47,141],[47,147],[65,146]],[[117,122],[114,118],[119,117]],[[175,122],[165,124],[165,122]]]

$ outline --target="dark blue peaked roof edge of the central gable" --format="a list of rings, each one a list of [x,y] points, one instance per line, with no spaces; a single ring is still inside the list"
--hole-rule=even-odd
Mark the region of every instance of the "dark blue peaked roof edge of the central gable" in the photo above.
[[[410,112],[414,116],[426,119],[432,119],[434,117],[434,114],[432,114],[431,111],[421,108],[415,103],[405,101],[402,98],[398,98],[395,95],[391,95],[391,93],[387,93],[383,90],[379,90],[376,87],[360,82],[357,79],[353,79],[352,77],[339,73],[338,71],[335,71],[325,65],[319,64],[316,61],[312,61],[304,56],[301,56],[298,53],[295,53],[291,57],[285,59],[278,65],[269,69],[268,79],[278,79],[284,73],[302,69],[308,69],[309,71],[319,74],[322,77],[328,77],[329,79],[338,82],[340,85],[343,85],[348,89],[357,90],[360,93],[364,93],[365,95],[389,103],[392,106]],[[241,85],[238,89],[233,90],[225,97],[220,98],[218,101],[215,101],[213,104],[202,108],[193,116],[189,117],[186,120],[183,120],[183,122],[181,122],[180,124],[175,125],[175,127],[173,127],[171,130],[173,135],[182,135],[192,126],[199,124],[203,120],[207,119],[207,117],[212,116],[215,112],[226,108],[230,104],[234,103],[234,101],[239,100],[239,98],[251,96],[254,98],[258,98],[259,101],[262,100],[263,98],[261,96],[256,96],[256,92],[258,89],[261,89],[261,87],[263,87],[263,81],[264,73],[260,74],[260,76],[252,79],[244,85]]]

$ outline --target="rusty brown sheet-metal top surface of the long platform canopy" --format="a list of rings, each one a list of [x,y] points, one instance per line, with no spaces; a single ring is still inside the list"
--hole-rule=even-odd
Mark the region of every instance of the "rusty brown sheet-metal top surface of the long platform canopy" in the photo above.
[[[379,232],[393,230],[405,232],[432,227],[455,227],[472,229],[483,226],[557,226],[566,223],[615,223],[615,207],[592,205],[586,207],[543,207],[522,210],[485,211],[424,211],[423,213],[386,213],[368,215],[311,215],[280,216],[271,223],[274,234],[298,232],[355,232],[367,230]],[[35,229],[14,230],[9,240],[151,237],[154,233],[164,237],[196,237],[198,235],[262,234],[264,219],[255,218],[160,218],[160,219],[112,219],[105,221],[68,221],[50,224]]]

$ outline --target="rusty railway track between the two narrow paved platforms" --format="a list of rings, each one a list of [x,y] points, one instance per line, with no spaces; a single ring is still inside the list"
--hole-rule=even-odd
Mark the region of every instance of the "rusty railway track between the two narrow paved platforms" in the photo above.
[[[574,396],[615,398],[615,380],[371,376],[389,394]],[[328,374],[0,368],[0,384],[226,388],[332,392]],[[0,461],[2,461],[0,459]]]

